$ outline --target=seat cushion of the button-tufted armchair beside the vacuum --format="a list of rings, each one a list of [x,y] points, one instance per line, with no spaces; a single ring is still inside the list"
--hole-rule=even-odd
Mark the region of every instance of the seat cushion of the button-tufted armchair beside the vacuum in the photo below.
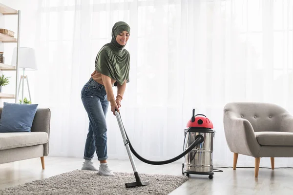
[[[255,132],[257,142],[263,146],[293,146],[293,133]]]

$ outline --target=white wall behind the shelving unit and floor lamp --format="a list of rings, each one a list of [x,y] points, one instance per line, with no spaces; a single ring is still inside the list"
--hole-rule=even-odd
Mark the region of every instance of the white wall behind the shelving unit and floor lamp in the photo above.
[[[41,0],[0,0],[0,3],[5,4],[13,9],[21,11],[21,37],[20,37],[20,47],[32,47],[35,48],[35,36],[36,36],[36,25],[37,25],[37,9]],[[9,29],[15,32],[15,37],[17,37],[17,25],[18,25],[17,15],[6,15],[0,16],[0,28]],[[16,43],[0,43],[0,50],[4,52],[5,63],[11,64],[11,57],[13,48],[17,46]],[[39,63],[37,61],[37,63]],[[19,71],[22,74],[22,71]],[[29,78],[29,85],[31,90],[32,100],[34,97],[34,79],[35,71],[26,71],[25,74]],[[15,93],[15,82],[16,73],[15,71],[2,71],[0,74],[11,77],[10,84],[2,88],[3,93]],[[20,75],[18,76],[20,78]],[[24,83],[24,96],[28,98],[28,90],[26,82]],[[21,93],[20,93],[21,98]],[[14,102],[14,99],[3,99],[3,101]],[[34,103],[34,102],[33,102]]]

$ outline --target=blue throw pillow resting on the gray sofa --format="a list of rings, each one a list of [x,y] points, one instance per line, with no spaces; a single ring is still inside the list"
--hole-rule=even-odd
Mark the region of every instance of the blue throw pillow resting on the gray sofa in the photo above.
[[[0,133],[30,132],[38,105],[4,102],[0,118]]]

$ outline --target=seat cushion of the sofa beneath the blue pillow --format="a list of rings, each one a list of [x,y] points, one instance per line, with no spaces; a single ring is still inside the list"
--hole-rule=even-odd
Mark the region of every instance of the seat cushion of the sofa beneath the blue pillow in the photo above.
[[[44,144],[48,140],[46,132],[0,133],[0,150]]]

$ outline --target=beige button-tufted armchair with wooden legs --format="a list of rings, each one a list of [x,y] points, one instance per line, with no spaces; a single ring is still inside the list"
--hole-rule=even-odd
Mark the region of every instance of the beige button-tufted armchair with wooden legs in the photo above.
[[[234,102],[224,107],[224,131],[236,169],[238,154],[255,157],[258,176],[261,157],[293,157],[293,116],[272,103]]]

